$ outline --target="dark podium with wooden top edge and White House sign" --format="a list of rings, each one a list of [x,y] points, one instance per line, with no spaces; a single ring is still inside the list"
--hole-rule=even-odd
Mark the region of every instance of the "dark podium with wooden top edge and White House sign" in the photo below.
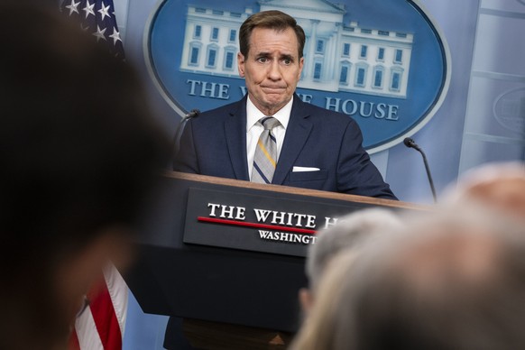
[[[317,229],[366,207],[421,209],[177,172],[163,177],[161,193],[124,275],[143,311],[288,333],[299,327],[304,256]]]

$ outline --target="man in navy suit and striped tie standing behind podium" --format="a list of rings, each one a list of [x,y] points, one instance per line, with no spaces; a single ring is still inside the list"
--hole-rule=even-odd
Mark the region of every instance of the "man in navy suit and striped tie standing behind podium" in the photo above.
[[[305,32],[290,15],[253,14],[241,26],[239,43],[237,64],[247,96],[189,120],[174,170],[396,199],[364,151],[355,121],[295,95]],[[256,165],[269,116],[278,121],[270,132],[275,153],[264,151],[271,174]],[[169,343],[167,337],[164,345],[171,348]]]

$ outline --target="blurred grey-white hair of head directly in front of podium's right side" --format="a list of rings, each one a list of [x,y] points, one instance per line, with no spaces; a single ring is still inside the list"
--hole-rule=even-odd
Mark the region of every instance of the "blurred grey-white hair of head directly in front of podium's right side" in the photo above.
[[[318,240],[316,244],[310,245],[306,261],[309,289],[299,290],[303,311],[312,307],[323,272],[337,253],[349,248],[358,250],[373,235],[386,235],[391,230],[399,229],[401,225],[400,218],[393,212],[372,208],[343,216],[335,226],[318,232]]]

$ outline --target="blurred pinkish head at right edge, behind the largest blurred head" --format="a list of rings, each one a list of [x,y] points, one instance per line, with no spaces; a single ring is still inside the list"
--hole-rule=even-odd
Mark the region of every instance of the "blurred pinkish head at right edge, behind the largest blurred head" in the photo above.
[[[525,164],[491,163],[465,173],[454,189],[448,189],[449,202],[476,202],[499,212],[525,219]]]

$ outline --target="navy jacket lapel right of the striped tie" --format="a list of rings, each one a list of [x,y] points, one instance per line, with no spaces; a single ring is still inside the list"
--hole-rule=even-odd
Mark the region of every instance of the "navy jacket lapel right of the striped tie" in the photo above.
[[[294,96],[290,122],[288,123],[284,142],[282,143],[277,168],[273,174],[273,184],[282,185],[295,160],[299,157],[299,153],[303,149],[304,144],[307,142],[312,126],[309,120],[308,110],[304,107],[304,103],[299,100],[298,96]]]

